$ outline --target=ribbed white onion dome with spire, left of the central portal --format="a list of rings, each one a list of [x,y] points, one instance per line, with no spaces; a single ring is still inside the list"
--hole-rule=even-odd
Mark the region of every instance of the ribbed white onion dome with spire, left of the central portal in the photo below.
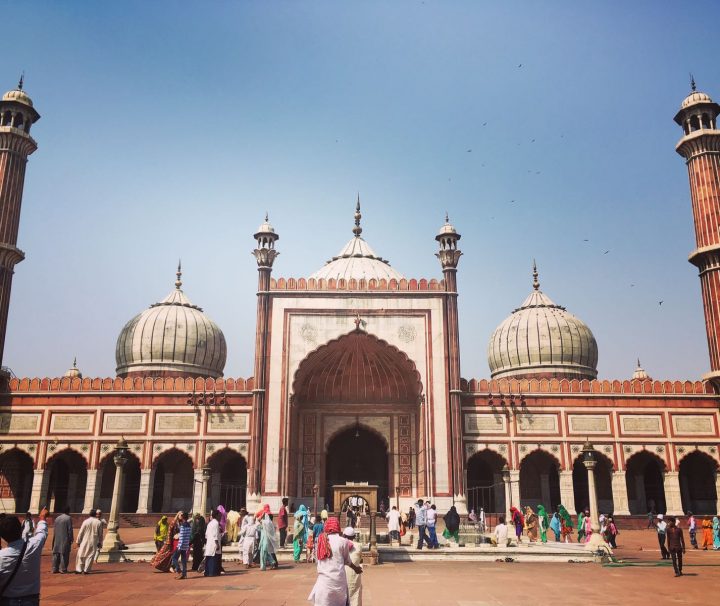
[[[178,265],[175,290],[139,313],[120,332],[117,374],[221,377],[227,358],[225,336],[182,291]]]

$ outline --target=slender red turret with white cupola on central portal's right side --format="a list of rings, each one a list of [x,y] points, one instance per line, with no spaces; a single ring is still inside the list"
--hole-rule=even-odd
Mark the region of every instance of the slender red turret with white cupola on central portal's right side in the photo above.
[[[445,215],[445,225],[435,239],[440,245],[436,257],[440,259],[445,280],[445,350],[447,356],[448,402],[450,405],[450,435],[452,436],[451,468],[452,489],[455,506],[459,513],[467,513],[465,497],[465,472],[462,443],[462,412],[460,410],[460,334],[457,307],[457,264],[462,252],[457,243],[460,234]]]

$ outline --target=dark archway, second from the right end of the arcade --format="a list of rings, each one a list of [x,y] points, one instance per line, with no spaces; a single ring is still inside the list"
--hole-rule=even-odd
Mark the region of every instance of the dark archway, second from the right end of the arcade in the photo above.
[[[627,460],[625,470],[630,513],[665,513],[665,464],[655,455],[643,450]]]

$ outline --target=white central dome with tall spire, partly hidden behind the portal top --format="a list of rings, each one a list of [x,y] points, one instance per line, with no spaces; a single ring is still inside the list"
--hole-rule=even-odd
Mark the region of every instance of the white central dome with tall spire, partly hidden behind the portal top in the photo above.
[[[358,196],[355,207],[355,227],[353,238],[344,246],[340,253],[330,259],[322,268],[310,276],[319,280],[344,278],[349,280],[355,278],[360,280],[402,280],[403,276],[399,271],[390,267],[390,263],[375,254],[370,245],[362,239],[362,227],[360,227],[360,196]]]

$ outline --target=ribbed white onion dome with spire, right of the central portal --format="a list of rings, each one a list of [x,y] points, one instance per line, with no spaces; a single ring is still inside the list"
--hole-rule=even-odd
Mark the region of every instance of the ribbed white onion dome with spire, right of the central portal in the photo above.
[[[540,290],[533,263],[533,291],[490,338],[490,375],[493,379],[594,379],[597,359],[592,331]]]

